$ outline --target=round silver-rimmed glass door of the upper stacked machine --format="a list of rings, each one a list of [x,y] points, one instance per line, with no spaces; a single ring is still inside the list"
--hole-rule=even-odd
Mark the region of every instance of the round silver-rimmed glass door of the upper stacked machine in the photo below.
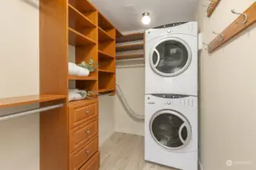
[[[185,41],[163,39],[150,52],[150,66],[160,76],[177,76],[188,68],[191,58],[191,48]]]

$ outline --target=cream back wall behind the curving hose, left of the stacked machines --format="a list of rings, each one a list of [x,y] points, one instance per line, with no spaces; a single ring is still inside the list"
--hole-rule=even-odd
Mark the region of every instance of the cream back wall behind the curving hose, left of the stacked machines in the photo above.
[[[127,62],[124,64],[125,66],[130,65]],[[144,67],[117,69],[116,82],[122,89],[131,109],[138,115],[144,116]],[[115,131],[144,135],[144,121],[137,121],[128,116],[117,96],[115,96]]]

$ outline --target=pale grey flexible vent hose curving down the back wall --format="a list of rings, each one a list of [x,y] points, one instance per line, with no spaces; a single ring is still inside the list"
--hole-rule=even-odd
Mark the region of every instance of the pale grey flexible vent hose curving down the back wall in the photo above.
[[[115,91],[117,96],[119,97],[119,100],[122,103],[122,106],[125,108],[126,112],[130,114],[132,117],[138,120],[144,120],[144,116],[138,115],[137,113],[134,113],[134,111],[131,109],[131,107],[128,105],[127,101],[125,100],[124,95],[122,94],[122,90],[119,87],[118,84],[115,84]]]

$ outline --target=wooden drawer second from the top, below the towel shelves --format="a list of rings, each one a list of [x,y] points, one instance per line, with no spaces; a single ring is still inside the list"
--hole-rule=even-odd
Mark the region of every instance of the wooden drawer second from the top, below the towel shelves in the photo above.
[[[78,147],[81,147],[81,145],[87,143],[90,138],[98,134],[98,123],[98,117],[96,117],[77,128],[73,128],[69,132],[70,153],[77,150]]]

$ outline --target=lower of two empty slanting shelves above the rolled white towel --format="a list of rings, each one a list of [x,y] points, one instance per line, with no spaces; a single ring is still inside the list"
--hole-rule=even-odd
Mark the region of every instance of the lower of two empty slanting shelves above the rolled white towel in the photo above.
[[[73,46],[85,46],[96,45],[96,42],[76,30],[68,28],[68,44]]]

